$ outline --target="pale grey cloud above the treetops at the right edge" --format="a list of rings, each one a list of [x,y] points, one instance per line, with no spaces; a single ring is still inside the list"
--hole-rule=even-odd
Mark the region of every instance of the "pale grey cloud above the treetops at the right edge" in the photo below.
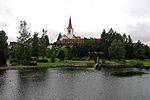
[[[131,35],[134,42],[141,40],[150,45],[150,22],[140,22],[135,25],[128,25],[126,30],[127,33]]]

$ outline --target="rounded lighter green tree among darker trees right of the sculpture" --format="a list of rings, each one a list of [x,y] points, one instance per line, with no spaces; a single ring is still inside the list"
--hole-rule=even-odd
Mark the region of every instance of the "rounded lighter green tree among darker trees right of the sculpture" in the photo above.
[[[114,39],[108,51],[112,59],[120,60],[125,58],[125,49],[121,40]]]

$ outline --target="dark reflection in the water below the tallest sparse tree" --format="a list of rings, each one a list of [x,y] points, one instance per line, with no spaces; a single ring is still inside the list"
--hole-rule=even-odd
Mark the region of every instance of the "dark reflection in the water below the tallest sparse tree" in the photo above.
[[[45,90],[43,88],[46,85],[45,81],[48,77],[48,70],[47,69],[19,70],[18,75],[20,78],[19,100],[38,99],[39,96],[42,94],[41,91]]]

